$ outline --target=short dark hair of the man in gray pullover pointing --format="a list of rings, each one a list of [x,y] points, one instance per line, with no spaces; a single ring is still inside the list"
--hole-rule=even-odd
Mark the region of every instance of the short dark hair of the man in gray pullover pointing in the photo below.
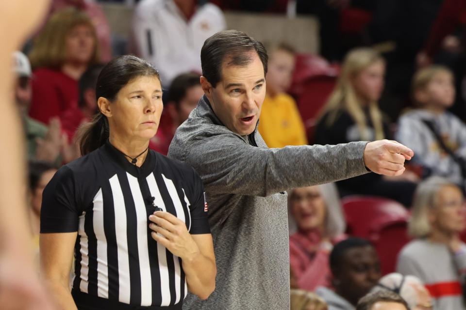
[[[267,74],[267,51],[264,45],[246,33],[237,30],[220,31],[205,40],[200,50],[202,75],[216,87],[222,79],[222,64],[225,60],[229,66],[245,66],[252,62],[250,56],[254,51],[264,66]]]

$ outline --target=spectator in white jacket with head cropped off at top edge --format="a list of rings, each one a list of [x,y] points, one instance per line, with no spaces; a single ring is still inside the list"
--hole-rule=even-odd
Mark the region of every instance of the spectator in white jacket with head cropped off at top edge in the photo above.
[[[152,63],[168,87],[183,72],[199,72],[205,39],[226,28],[222,11],[198,0],[142,0],[133,16],[133,52]]]

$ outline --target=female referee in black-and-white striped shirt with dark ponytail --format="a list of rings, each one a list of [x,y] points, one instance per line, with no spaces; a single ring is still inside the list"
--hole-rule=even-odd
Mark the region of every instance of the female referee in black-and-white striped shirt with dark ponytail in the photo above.
[[[134,56],[109,62],[83,157],[43,193],[40,256],[62,309],[181,310],[207,298],[216,264],[196,172],[148,149],[162,113],[157,70]],[[74,279],[69,274],[75,258]]]

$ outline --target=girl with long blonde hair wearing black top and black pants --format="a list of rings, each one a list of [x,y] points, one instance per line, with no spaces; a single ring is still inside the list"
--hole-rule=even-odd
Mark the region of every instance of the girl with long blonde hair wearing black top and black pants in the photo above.
[[[351,50],[342,65],[335,89],[321,111],[316,144],[390,139],[389,124],[378,106],[384,86],[385,61],[371,48]],[[369,173],[337,183],[341,194],[368,194],[411,206],[416,184],[413,174],[382,177]]]

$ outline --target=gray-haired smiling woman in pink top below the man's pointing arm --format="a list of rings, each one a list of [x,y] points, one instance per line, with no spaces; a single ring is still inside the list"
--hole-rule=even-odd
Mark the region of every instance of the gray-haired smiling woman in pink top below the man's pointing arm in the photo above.
[[[329,255],[346,238],[345,218],[333,183],[289,191],[290,264],[300,289],[331,287]]]

